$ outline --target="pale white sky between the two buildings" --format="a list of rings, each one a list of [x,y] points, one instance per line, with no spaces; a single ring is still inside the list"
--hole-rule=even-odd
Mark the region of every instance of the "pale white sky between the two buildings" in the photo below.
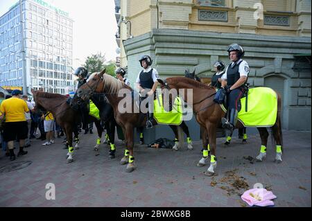
[[[114,0],[44,0],[73,19],[73,67],[85,62],[87,56],[102,53],[107,61],[116,60]],[[0,0],[0,17],[17,0]]]

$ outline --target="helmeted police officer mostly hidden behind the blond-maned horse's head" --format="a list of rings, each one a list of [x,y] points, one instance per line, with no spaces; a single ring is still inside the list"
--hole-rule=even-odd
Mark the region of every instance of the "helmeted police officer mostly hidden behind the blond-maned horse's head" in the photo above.
[[[85,67],[78,67],[74,72],[74,75],[78,77],[78,82],[76,85],[76,91],[87,82],[88,70]],[[85,130],[85,134],[89,131],[87,125],[87,117],[89,114],[89,110],[87,109],[86,105],[80,105],[80,112],[81,112],[81,121],[83,121],[83,130]]]

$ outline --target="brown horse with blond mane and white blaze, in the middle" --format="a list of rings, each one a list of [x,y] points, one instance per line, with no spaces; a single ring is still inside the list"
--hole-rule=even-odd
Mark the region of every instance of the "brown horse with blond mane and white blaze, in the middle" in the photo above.
[[[123,94],[119,96],[121,90],[124,90],[128,94]],[[122,130],[123,134],[125,135],[125,155],[121,159],[121,164],[126,164],[127,172],[132,172],[135,170],[134,164],[134,154],[133,154],[133,134],[135,127],[145,127],[146,125],[146,114],[142,114],[139,112],[137,105],[135,105],[134,99],[132,99],[132,88],[125,85],[120,80],[113,78],[110,75],[105,74],[105,69],[101,71],[101,73],[92,73],[89,76],[89,80],[85,85],[82,85],[77,94],[83,100],[89,100],[92,97],[92,94],[96,93],[103,93],[110,101],[110,105],[112,105],[114,109],[114,117],[116,119],[116,123],[118,123]],[[125,100],[127,98],[130,100],[130,110],[128,112],[120,112],[119,103],[121,100]],[[122,105],[121,105],[122,106]],[[154,121],[154,125],[156,122]],[[173,125],[169,125],[171,129],[173,129]],[[174,131],[174,130],[173,130]]]

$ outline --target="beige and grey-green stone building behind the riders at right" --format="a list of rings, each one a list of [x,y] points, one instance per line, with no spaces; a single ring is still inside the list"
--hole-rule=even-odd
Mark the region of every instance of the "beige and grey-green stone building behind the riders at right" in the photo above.
[[[216,60],[229,64],[226,49],[236,42],[250,65],[251,87],[281,94],[283,128],[311,130],[311,1],[121,0],[120,6],[121,67],[132,82],[142,54],[161,78],[185,69],[210,78]]]

